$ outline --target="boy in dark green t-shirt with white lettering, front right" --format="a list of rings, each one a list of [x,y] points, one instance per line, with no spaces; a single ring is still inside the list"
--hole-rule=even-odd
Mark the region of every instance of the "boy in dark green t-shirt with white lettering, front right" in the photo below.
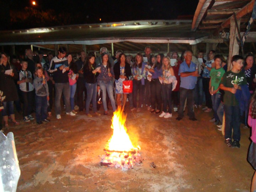
[[[241,71],[244,58],[234,55],[231,58],[233,68],[224,73],[220,82],[220,89],[225,91],[224,113],[225,113],[225,143],[229,147],[240,148],[240,108],[236,100],[236,90],[241,90],[240,85],[247,84],[246,77]],[[231,140],[233,128],[233,142]]]

